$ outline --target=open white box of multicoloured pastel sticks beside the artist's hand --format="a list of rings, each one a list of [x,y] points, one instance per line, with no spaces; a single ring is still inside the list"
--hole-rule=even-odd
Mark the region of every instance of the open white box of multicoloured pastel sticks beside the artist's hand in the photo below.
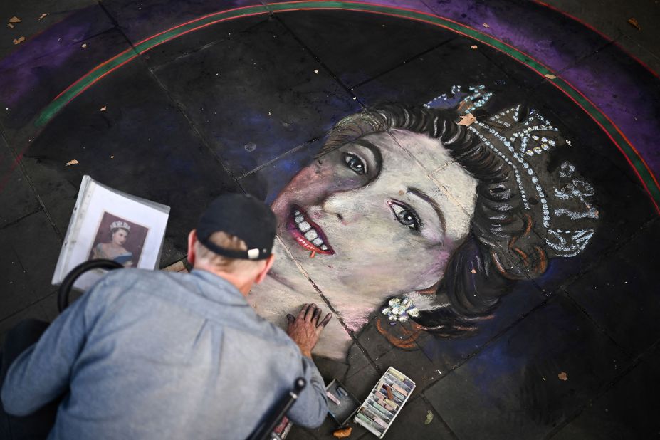
[[[362,406],[357,409],[355,423],[382,439],[413,389],[415,382],[402,372],[389,367]]]

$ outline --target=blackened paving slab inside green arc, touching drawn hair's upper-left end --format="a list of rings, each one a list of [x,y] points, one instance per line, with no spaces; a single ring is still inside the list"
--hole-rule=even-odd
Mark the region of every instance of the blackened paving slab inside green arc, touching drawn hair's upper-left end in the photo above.
[[[323,136],[338,115],[359,108],[278,21],[159,66],[155,75],[237,177]]]

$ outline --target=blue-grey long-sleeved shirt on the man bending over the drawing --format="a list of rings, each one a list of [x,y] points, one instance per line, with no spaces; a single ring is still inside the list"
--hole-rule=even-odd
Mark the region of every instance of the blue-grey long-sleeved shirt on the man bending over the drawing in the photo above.
[[[245,439],[300,376],[308,386],[288,417],[318,426],[315,365],[231,283],[122,269],[14,361],[1,397],[26,415],[70,388],[49,439]]]

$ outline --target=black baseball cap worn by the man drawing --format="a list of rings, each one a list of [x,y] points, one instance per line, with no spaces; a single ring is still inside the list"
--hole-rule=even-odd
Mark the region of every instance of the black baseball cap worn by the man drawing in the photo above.
[[[250,194],[222,194],[211,202],[197,224],[197,240],[214,253],[228,258],[263,260],[273,251],[277,220],[273,211]],[[248,245],[247,251],[221,248],[211,235],[225,232]]]

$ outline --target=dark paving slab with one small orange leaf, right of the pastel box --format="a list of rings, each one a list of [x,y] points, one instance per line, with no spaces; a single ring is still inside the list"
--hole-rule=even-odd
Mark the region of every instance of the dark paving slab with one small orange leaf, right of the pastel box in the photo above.
[[[461,439],[484,432],[541,439],[629,362],[582,310],[557,296],[425,395]]]

